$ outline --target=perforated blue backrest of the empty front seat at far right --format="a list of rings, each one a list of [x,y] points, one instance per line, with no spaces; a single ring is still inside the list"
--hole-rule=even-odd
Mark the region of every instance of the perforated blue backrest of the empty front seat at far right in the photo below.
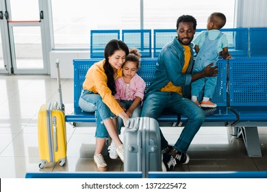
[[[230,106],[267,106],[267,58],[229,60]]]

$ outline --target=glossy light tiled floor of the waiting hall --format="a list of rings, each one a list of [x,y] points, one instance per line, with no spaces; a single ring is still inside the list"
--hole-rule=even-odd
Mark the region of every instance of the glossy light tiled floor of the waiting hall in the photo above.
[[[73,128],[66,124],[68,151],[63,167],[47,163],[38,167],[38,110],[47,101],[58,100],[57,80],[47,75],[0,75],[0,178],[24,178],[27,172],[97,171],[93,161],[94,127]],[[73,80],[62,80],[66,113],[73,107]],[[175,143],[181,128],[163,128]],[[261,158],[250,158],[242,140],[231,128],[203,127],[188,150],[190,163],[172,171],[267,171],[267,125],[259,128]],[[120,160],[105,157],[109,171],[123,171]]]

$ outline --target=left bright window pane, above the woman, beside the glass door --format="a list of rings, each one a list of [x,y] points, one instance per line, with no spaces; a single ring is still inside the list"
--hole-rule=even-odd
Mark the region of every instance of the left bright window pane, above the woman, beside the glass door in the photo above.
[[[140,29],[140,0],[53,0],[55,48],[90,47],[90,30]]]

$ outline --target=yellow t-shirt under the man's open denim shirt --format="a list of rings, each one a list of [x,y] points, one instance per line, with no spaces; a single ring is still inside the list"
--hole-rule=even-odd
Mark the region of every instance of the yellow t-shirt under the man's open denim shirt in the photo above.
[[[183,69],[181,69],[181,73],[185,74],[186,71],[188,70],[188,66],[189,66],[189,62],[191,58],[191,50],[188,45],[182,45],[182,46],[183,46],[183,49],[185,49],[185,51],[184,51],[184,65],[183,65]],[[176,92],[182,95],[181,90],[182,90],[181,86],[175,86],[173,85],[172,82],[168,82],[166,86],[160,89],[160,91]]]

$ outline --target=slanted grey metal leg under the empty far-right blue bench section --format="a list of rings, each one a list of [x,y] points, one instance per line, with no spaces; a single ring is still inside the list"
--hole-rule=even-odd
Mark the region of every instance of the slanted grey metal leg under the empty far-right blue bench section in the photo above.
[[[246,152],[249,156],[261,157],[262,150],[259,143],[259,134],[257,127],[238,127],[238,134],[236,138],[244,139]]]

